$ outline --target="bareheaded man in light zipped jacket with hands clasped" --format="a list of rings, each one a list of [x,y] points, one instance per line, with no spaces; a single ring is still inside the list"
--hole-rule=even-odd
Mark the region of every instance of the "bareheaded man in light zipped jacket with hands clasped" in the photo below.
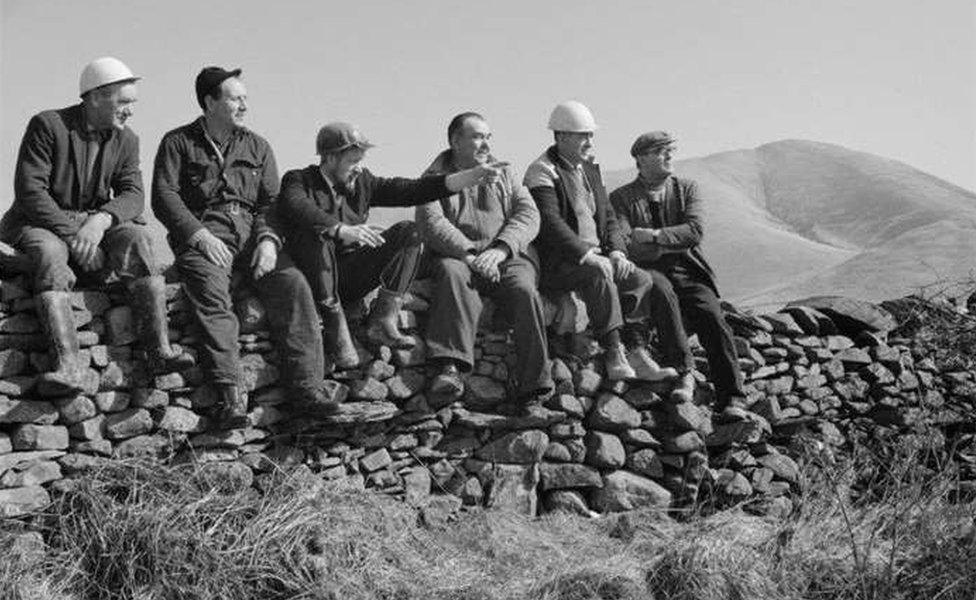
[[[434,159],[428,175],[455,173],[495,162],[491,128],[478,113],[454,117],[447,127],[450,148]],[[481,296],[500,303],[513,325],[516,394],[529,412],[552,390],[546,322],[537,289],[539,259],[530,242],[539,231],[539,211],[509,167],[491,182],[417,208],[417,225],[430,251],[435,281],[428,355],[438,374],[431,391],[459,396],[463,371],[474,363]]]

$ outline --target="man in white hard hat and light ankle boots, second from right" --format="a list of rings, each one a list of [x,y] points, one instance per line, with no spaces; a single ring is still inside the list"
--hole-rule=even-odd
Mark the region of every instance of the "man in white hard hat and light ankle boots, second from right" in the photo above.
[[[663,380],[683,374],[677,397],[690,399],[694,363],[677,313],[657,293],[651,277],[627,257],[627,246],[607,198],[599,166],[592,155],[596,121],[583,104],[570,100],[549,118],[555,143],[525,173],[525,186],[541,216],[535,244],[542,259],[540,285],[545,290],[577,292],[586,304],[596,333],[606,347],[610,380]],[[659,367],[642,347],[628,360],[621,340],[625,324],[654,320],[662,343],[681,344],[684,356],[674,368]],[[633,363],[633,364],[631,364]]]

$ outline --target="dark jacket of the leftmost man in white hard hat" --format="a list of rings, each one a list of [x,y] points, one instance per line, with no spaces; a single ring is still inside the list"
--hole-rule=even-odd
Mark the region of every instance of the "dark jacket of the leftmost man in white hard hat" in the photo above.
[[[139,138],[128,127],[106,133],[108,139],[92,172],[98,179],[86,201],[81,178],[87,135],[81,104],[47,110],[30,120],[17,155],[14,202],[4,217],[5,232],[32,226],[71,237],[81,222],[70,219],[65,211],[103,211],[115,223],[143,222]]]

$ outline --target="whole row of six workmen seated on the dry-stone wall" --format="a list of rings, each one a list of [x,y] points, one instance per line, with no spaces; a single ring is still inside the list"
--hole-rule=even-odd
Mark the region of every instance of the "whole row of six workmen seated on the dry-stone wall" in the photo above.
[[[141,217],[138,138],[126,125],[138,79],[118,59],[96,59],[82,71],[81,103],[35,115],[20,146],[0,239],[31,264],[56,356],[54,370],[39,379],[44,394],[81,389],[69,291],[79,282],[97,285],[107,273],[128,287],[150,369],[192,364],[167,339],[160,266]],[[397,316],[404,293],[425,272],[435,282],[425,331],[432,393],[462,393],[482,297],[489,296],[513,324],[523,410],[551,394],[541,287],[582,298],[606,348],[610,380],[674,378],[679,401],[691,399],[695,384],[688,323],[710,361],[717,414],[738,414],[724,410],[742,395],[742,377],[700,251],[702,208],[695,183],[672,174],[669,134],[636,139],[639,175],[609,195],[591,151],[596,123],[575,101],[552,111],[554,143],[522,180],[491,154],[488,121],[473,112],[450,121],[448,149],[419,178],[374,175],[362,164],[372,145],[352,125],[334,122],[316,136],[319,163],[279,179],[268,142],[244,126],[241,70],[206,67],[195,91],[203,114],[160,142],[151,205],[168,230],[202,332],[199,362],[215,386],[223,426],[241,426],[247,412],[231,301],[235,270],[247,273],[265,304],[284,382],[310,413],[336,409],[322,386],[326,365],[348,369],[359,360],[342,303],[378,288],[368,340],[410,347],[415,340],[399,330]],[[373,206],[415,206],[416,220],[381,230],[368,222]],[[657,329],[664,367],[646,341],[630,339],[631,324]]]

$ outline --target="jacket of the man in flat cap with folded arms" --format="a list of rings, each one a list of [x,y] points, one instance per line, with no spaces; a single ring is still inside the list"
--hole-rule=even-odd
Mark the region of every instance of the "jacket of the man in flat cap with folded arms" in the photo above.
[[[675,261],[684,262],[704,278],[718,295],[715,273],[701,251],[704,232],[704,210],[698,196],[698,185],[681,177],[669,177],[664,183],[659,224],[654,223],[651,193],[640,176],[610,194],[620,230],[627,241],[630,259],[638,266],[667,274]],[[633,240],[636,228],[659,229],[654,243]]]

